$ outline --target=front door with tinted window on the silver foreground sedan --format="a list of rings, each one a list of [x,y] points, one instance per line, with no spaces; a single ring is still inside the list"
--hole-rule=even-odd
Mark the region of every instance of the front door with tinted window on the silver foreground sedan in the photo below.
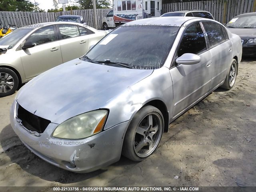
[[[176,55],[180,57],[185,53],[197,54],[201,61],[191,65],[174,63],[170,69],[173,82],[173,118],[181,115],[210,90],[212,55],[206,48],[199,22],[185,29]]]

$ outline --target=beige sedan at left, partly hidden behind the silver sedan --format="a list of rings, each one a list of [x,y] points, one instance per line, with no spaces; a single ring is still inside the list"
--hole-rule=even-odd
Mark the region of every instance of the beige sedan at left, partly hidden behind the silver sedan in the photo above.
[[[0,39],[0,97],[59,64],[84,55],[108,32],[73,22],[18,28]]]

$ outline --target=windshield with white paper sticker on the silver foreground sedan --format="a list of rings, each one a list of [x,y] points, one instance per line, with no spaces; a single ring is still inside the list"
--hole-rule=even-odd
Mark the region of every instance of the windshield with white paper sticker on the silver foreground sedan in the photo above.
[[[178,30],[179,27],[170,26],[120,26],[82,59],[111,61],[105,64],[120,62],[135,69],[157,69],[163,66]]]

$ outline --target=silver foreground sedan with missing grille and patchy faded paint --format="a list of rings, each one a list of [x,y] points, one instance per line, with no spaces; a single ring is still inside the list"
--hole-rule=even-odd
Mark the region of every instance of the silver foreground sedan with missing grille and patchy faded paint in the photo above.
[[[72,172],[99,169],[121,153],[142,161],[173,120],[219,86],[234,86],[241,57],[240,37],[214,20],[129,22],[24,85],[10,122],[34,154]]]

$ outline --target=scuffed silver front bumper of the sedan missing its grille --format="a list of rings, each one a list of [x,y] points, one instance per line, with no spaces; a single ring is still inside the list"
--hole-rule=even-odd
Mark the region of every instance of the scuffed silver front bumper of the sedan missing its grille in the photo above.
[[[72,172],[92,172],[120,159],[124,134],[130,121],[118,124],[89,138],[68,140],[52,137],[58,124],[50,123],[38,135],[28,132],[16,118],[17,102],[10,111],[10,122],[14,132],[34,154],[60,168]]]

